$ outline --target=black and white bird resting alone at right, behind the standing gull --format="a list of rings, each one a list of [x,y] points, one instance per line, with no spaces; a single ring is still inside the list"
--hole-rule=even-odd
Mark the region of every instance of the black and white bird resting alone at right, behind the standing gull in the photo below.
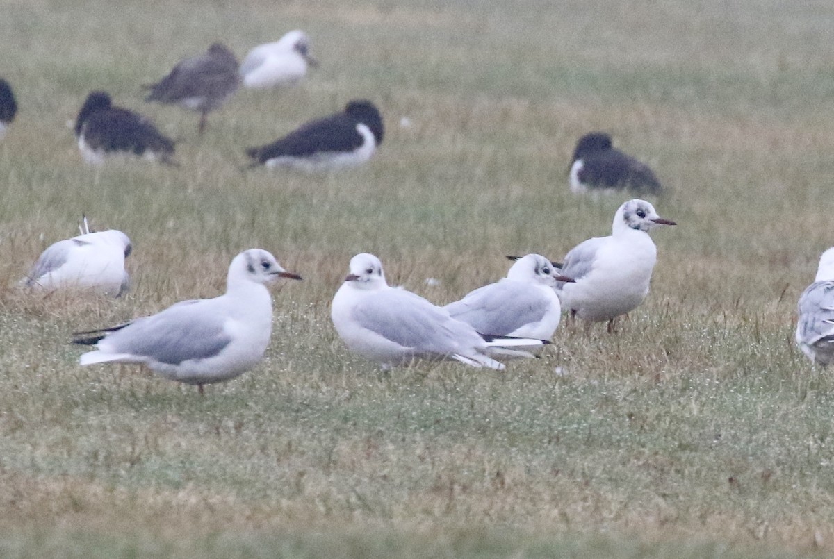
[[[645,163],[613,147],[604,132],[590,132],[576,142],[570,161],[571,192],[604,192],[628,189],[660,194],[661,182]]]

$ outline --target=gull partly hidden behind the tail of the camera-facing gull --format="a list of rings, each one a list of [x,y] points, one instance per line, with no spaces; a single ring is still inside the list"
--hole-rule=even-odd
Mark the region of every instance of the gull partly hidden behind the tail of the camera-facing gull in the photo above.
[[[499,282],[479,287],[444,308],[478,332],[549,340],[559,326],[556,281],[571,282],[540,254],[519,258]]]

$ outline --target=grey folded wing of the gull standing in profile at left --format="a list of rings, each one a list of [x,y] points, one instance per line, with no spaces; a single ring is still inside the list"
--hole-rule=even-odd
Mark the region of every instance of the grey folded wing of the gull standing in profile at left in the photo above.
[[[214,357],[232,338],[224,332],[224,318],[204,302],[178,302],[153,316],[137,318],[103,342],[108,352],[150,357],[171,365]]]

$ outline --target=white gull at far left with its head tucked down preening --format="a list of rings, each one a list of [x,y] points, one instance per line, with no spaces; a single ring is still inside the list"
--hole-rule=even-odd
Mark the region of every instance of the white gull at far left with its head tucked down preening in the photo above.
[[[46,291],[71,288],[118,297],[130,282],[124,259],[130,239],[121,231],[90,232],[84,219],[82,234],[58,241],[38,257],[22,285]]]

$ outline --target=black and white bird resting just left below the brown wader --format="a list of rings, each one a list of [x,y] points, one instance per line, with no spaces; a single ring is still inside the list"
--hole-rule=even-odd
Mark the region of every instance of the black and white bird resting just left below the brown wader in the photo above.
[[[114,107],[108,93],[91,92],[75,119],[75,137],[84,160],[95,165],[108,157],[142,157],[173,163],[173,140],[148,118]]]

